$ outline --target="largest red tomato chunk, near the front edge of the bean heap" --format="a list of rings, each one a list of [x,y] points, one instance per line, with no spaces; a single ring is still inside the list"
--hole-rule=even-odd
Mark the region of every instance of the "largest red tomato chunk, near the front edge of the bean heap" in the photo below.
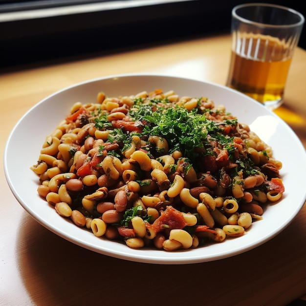
[[[165,228],[164,225],[169,226],[169,229],[182,229],[187,223],[180,211],[172,206],[167,206],[151,226],[154,231],[160,232]]]

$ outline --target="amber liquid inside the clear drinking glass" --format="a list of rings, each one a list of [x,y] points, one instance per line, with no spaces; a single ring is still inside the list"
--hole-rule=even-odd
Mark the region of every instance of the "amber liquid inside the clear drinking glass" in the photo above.
[[[256,54],[255,46],[249,44],[247,40],[244,48],[248,52],[243,55],[232,51],[227,85],[267,106],[276,107],[283,99],[291,57],[286,56],[284,45],[275,41],[259,42]]]

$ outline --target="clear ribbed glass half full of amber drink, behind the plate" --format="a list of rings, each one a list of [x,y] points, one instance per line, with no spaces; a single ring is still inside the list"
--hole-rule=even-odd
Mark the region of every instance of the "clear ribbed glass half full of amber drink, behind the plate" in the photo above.
[[[232,10],[232,55],[227,86],[269,109],[283,103],[284,87],[304,25],[299,12],[247,3]]]

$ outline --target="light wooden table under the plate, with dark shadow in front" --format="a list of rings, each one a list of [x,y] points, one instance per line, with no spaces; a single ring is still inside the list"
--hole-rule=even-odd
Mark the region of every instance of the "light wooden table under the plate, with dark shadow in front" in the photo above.
[[[1,158],[21,116],[63,87],[135,72],[224,85],[230,47],[230,36],[220,35],[2,73]],[[297,49],[276,112],[306,146],[305,80],[306,51]],[[2,164],[0,186],[0,305],[286,305],[306,293],[305,206],[281,234],[246,253],[156,265],[100,255],[46,230],[13,197]]]

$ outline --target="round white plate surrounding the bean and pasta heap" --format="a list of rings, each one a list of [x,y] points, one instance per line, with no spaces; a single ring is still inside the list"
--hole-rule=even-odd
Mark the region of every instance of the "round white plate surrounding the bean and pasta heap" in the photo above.
[[[36,163],[45,137],[69,113],[75,102],[96,102],[97,92],[107,96],[131,95],[140,91],[175,90],[180,96],[207,96],[223,104],[248,124],[263,141],[272,146],[274,157],[283,162],[281,175],[285,193],[280,202],[269,205],[263,219],[247,233],[222,243],[213,243],[177,252],[131,249],[123,243],[95,237],[61,218],[37,194],[38,177],[30,167]],[[98,253],[115,258],[162,264],[182,264],[219,260],[250,250],[270,240],[292,221],[306,200],[304,173],[306,154],[296,134],[273,112],[239,92],[197,80],[158,75],[119,75],[90,80],[52,94],[30,109],[11,132],[4,151],[4,171],[8,184],[22,207],[38,222],[57,235]]]

